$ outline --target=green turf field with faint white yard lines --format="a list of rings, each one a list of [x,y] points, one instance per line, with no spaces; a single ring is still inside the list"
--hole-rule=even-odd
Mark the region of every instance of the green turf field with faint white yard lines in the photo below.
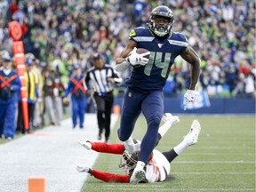
[[[156,148],[163,152],[179,144],[195,118],[202,126],[198,143],[172,161],[168,180],[132,186],[88,176],[81,191],[255,191],[254,116],[180,116],[180,124],[172,127]],[[110,142],[119,143],[116,136],[118,124],[112,131]],[[133,137],[141,140],[145,127],[142,117]],[[123,174],[118,168],[119,161],[120,156],[100,154],[93,168]]]

